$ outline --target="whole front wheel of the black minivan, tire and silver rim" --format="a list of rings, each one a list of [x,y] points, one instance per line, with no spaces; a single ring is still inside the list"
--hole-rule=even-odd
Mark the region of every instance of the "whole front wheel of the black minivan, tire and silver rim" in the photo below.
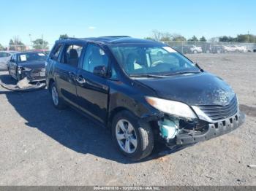
[[[113,118],[112,137],[118,150],[130,160],[141,160],[150,155],[154,148],[154,134],[150,125],[139,125],[138,117],[128,111],[119,112]]]

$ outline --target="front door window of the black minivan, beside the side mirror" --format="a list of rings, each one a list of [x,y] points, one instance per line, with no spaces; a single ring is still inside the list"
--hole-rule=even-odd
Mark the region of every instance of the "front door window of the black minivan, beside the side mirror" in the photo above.
[[[96,44],[89,44],[86,48],[85,58],[83,59],[83,69],[91,73],[94,72],[94,68],[97,66],[105,66],[107,69],[108,61],[108,55],[105,54],[104,50]]]

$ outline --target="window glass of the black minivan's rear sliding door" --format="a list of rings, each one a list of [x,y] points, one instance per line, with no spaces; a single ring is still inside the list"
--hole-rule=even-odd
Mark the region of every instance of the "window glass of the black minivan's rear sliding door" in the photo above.
[[[61,63],[69,64],[77,67],[78,61],[83,50],[83,46],[76,44],[68,44],[64,47],[64,53],[61,56]]]

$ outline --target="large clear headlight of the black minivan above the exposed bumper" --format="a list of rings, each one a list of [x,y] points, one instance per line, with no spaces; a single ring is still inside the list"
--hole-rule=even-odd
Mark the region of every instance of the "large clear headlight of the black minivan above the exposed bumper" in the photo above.
[[[146,97],[146,101],[154,108],[167,114],[173,114],[186,118],[197,118],[195,113],[190,109],[187,104],[183,104],[179,101],[170,101],[166,99]]]

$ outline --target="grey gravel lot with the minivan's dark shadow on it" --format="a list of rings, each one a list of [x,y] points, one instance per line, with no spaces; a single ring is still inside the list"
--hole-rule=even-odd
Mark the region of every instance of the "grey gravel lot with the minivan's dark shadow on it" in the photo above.
[[[53,108],[48,90],[0,88],[1,185],[256,185],[256,53],[189,55],[238,94],[246,122],[217,139],[131,163],[110,133],[72,109]],[[4,82],[13,82],[1,72]],[[161,154],[162,152],[160,152]]]

